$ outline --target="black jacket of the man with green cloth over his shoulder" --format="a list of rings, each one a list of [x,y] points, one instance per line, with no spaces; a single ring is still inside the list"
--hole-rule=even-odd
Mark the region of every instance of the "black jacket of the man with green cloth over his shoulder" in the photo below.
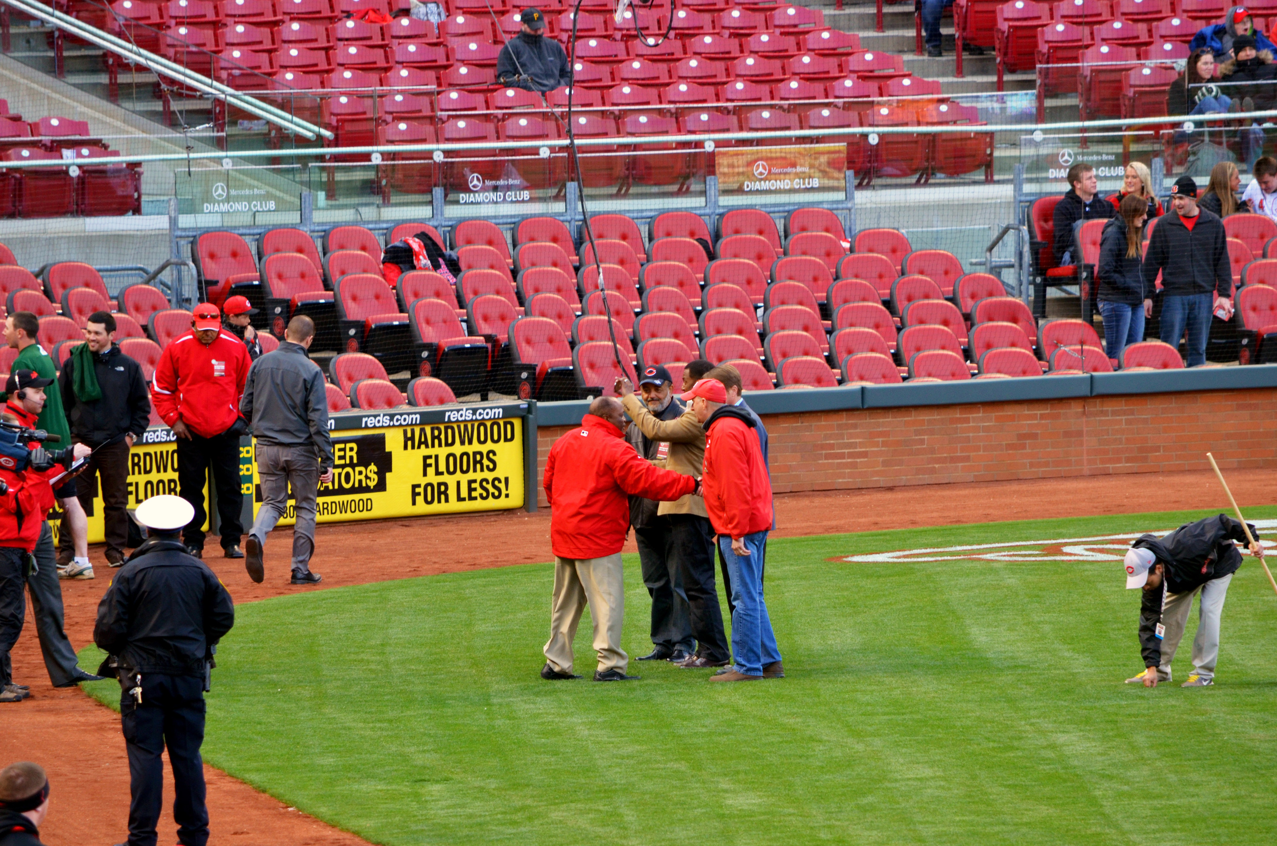
[[[80,403],[72,387],[75,383],[74,357],[63,364],[57,386],[72,437],[89,446],[100,446],[124,432],[142,437],[151,424],[151,392],[142,367],[121,353],[119,345],[111,344],[111,349],[93,357],[93,372],[102,399]]]

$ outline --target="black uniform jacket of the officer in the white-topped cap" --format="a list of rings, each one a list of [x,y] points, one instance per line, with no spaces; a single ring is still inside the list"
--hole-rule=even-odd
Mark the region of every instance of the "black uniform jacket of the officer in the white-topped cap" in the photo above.
[[[235,625],[231,594],[179,541],[151,538],[97,606],[93,642],[140,673],[203,676],[208,648]]]

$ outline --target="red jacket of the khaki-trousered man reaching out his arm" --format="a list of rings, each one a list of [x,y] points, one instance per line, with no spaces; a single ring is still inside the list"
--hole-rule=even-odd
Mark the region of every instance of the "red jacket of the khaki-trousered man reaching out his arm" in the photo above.
[[[653,466],[621,429],[586,414],[580,428],[554,441],[545,461],[550,547],[561,558],[616,555],[630,533],[631,496],[672,501],[695,489],[696,479]]]

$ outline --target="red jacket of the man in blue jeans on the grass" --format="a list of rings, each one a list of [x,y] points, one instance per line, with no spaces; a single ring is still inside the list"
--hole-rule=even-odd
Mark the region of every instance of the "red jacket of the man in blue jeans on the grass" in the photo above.
[[[716,533],[743,538],[771,528],[771,479],[753,418],[733,405],[706,420],[701,488]]]

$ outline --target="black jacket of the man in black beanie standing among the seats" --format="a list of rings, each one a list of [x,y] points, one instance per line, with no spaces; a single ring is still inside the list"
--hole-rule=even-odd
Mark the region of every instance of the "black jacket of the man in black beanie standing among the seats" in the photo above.
[[[1167,296],[1211,291],[1232,296],[1228,240],[1220,216],[1199,211],[1193,231],[1175,211],[1157,221],[1144,253],[1145,290],[1154,289],[1158,271],[1162,273],[1162,293]]]

